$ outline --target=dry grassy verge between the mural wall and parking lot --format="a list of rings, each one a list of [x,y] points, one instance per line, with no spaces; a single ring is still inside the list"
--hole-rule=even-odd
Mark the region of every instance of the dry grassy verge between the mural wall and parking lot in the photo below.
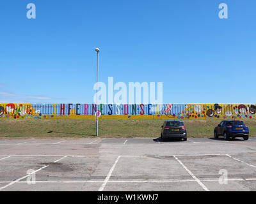
[[[100,137],[152,137],[160,136],[164,120],[99,120]],[[244,120],[250,128],[250,136],[256,136],[256,121]],[[184,120],[190,137],[212,137],[214,127],[220,120]],[[52,138],[93,137],[95,120],[0,120],[0,138]]]

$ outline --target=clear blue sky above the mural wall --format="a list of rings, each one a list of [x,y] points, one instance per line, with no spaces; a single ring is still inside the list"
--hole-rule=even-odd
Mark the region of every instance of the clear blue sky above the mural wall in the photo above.
[[[28,3],[36,19],[28,19]],[[220,19],[218,5],[228,5]],[[163,82],[164,103],[256,103],[256,1],[0,4],[0,102],[92,103],[100,82]]]

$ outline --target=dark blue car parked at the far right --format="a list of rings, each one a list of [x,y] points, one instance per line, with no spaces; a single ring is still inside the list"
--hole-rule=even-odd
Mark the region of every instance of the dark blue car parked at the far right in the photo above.
[[[214,138],[224,136],[224,140],[229,138],[242,137],[244,140],[249,139],[249,128],[241,120],[222,120],[214,128]]]

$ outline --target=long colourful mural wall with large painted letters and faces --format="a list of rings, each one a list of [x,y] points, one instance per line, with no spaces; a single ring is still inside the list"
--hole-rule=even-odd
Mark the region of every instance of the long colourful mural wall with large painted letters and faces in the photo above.
[[[0,119],[256,119],[253,104],[0,103]]]

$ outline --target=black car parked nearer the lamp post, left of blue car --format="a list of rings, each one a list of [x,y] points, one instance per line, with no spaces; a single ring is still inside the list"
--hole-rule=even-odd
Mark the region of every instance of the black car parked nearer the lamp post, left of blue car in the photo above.
[[[182,120],[165,120],[161,127],[161,139],[180,138],[187,140],[187,129]]]

